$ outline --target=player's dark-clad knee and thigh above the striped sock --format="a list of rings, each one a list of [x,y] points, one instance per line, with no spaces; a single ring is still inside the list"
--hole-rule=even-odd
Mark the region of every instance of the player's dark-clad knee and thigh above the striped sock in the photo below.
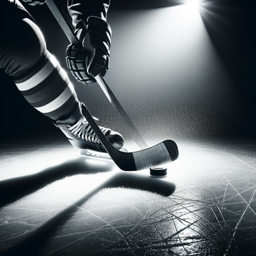
[[[44,37],[16,2],[1,1],[0,9],[0,67],[10,76],[26,76],[46,55]]]

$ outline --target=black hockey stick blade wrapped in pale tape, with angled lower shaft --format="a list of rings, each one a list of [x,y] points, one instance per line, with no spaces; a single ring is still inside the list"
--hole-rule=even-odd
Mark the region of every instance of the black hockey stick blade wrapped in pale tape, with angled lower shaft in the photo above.
[[[160,166],[176,160],[179,155],[178,147],[173,140],[165,140],[151,148],[140,151],[129,153],[119,151],[111,145],[102,133],[84,104],[82,105],[82,113],[112,160],[123,171],[139,171]]]

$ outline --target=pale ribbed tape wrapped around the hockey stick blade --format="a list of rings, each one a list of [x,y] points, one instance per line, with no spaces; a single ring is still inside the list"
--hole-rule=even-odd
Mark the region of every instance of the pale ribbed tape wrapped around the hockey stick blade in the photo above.
[[[159,145],[155,145],[143,151],[133,152],[132,154],[137,170],[148,169],[172,162],[164,143],[160,143]]]

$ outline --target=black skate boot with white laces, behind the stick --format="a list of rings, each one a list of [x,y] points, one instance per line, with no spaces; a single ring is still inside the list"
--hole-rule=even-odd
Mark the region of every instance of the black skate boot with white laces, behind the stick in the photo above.
[[[82,105],[83,103],[81,103]],[[73,114],[65,119],[53,122],[55,126],[61,129],[61,131],[67,136],[70,143],[79,148],[81,154],[85,154],[87,150],[98,151],[107,153],[104,146],[100,143],[98,137],[90,127],[81,113],[81,105],[79,104]],[[95,120],[95,117],[93,117]],[[112,131],[111,129],[99,127],[102,133],[106,136],[108,141],[116,148],[122,148],[124,139],[121,134]]]

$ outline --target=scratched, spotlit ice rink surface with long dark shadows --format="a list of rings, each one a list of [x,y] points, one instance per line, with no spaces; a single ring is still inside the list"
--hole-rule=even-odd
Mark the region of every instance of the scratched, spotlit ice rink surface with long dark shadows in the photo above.
[[[0,146],[2,255],[256,255],[256,140],[177,142],[168,175],[66,140]]]

